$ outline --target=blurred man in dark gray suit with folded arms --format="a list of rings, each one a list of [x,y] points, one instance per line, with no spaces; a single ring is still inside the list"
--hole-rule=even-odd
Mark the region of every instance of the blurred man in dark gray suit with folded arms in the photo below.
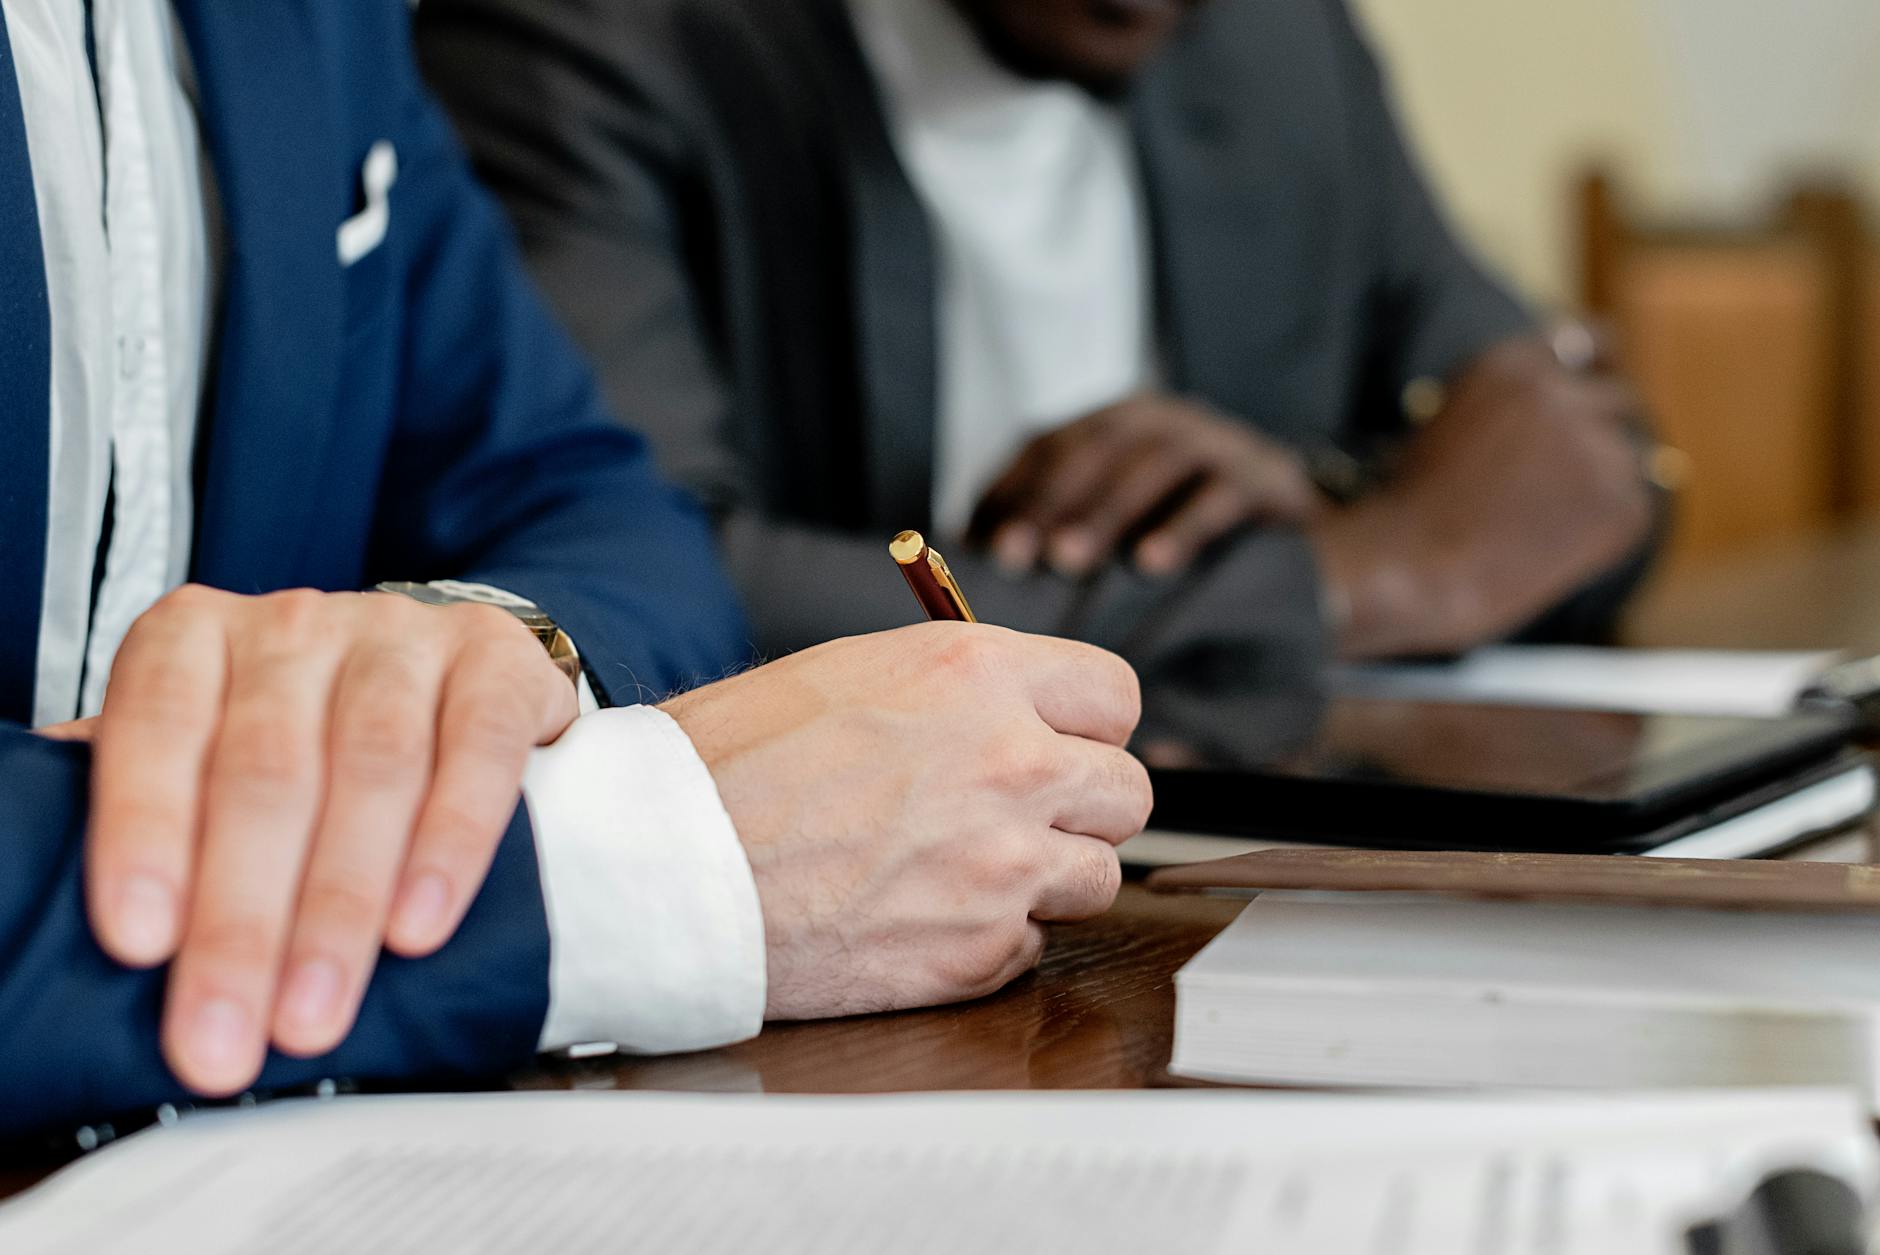
[[[1621,380],[1466,254],[1340,0],[427,0],[536,276],[769,650],[981,616],[1147,676],[1596,637]]]

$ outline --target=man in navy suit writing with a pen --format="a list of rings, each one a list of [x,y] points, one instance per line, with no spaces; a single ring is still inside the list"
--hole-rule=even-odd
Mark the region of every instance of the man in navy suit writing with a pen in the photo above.
[[[934,624],[692,688],[746,654],[707,532],[406,4],[0,19],[0,1131],[968,998],[1109,904],[1115,658]]]

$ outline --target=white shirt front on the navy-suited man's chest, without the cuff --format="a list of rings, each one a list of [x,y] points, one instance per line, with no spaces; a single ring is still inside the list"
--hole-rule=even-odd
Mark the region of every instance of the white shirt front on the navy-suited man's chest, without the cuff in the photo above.
[[[96,90],[79,0],[6,0],[6,19],[53,323],[56,505],[34,721],[55,723],[98,710],[130,624],[188,569],[209,229],[169,6],[98,0]],[[94,616],[92,558],[113,475]]]

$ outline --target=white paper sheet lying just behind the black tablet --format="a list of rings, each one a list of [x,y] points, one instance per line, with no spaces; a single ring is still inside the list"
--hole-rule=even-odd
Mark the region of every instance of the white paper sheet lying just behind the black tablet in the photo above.
[[[1782,650],[1602,650],[1496,644],[1453,663],[1344,667],[1340,691],[1643,714],[1775,718],[1841,656]]]

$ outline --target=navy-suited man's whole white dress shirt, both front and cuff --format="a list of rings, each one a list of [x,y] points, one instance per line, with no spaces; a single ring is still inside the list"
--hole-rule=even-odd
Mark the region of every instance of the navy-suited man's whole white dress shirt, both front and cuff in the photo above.
[[[43,725],[98,712],[124,633],[188,571],[216,207],[167,4],[94,0],[96,86],[79,0],[0,0],[0,15],[53,331]],[[92,605],[107,485],[113,532]],[[536,751],[525,798],[551,936],[543,1050],[696,1050],[761,1028],[756,883],[711,772],[671,718],[650,706],[583,714]]]

